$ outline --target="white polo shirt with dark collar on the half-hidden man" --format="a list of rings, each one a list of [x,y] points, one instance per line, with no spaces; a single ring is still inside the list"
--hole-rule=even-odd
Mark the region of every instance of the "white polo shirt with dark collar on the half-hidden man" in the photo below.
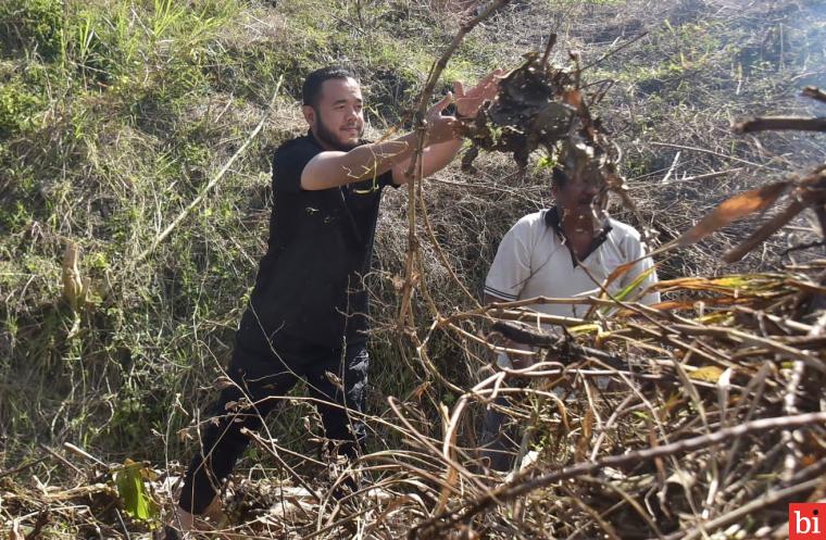
[[[581,265],[576,264],[572,251],[565,246],[556,209],[528,214],[502,238],[485,280],[485,292],[505,301],[599,296],[600,289],[595,280],[604,285],[614,269],[646,253],[639,233],[615,219],[609,221],[596,241],[599,242],[596,249],[581,261]],[[615,293],[627,288],[652,266],[650,258],[642,259],[609,285],[608,290]],[[659,302],[659,292],[640,298],[644,289],[654,282],[656,273],[651,271],[625,300],[649,304]],[[551,315],[581,317],[589,305],[531,304],[530,307]]]

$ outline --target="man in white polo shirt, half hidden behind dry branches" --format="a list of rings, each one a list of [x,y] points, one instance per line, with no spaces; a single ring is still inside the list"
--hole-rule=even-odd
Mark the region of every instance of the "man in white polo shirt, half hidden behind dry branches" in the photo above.
[[[571,178],[553,169],[551,192],[556,205],[528,214],[511,227],[499,244],[485,280],[485,303],[511,302],[536,297],[574,298],[599,296],[601,287],[616,293],[636,286],[626,300],[647,304],[660,301],[646,290],[656,282],[656,273],[637,230],[624,223],[602,218],[596,208],[599,188],[585,178]],[[608,278],[620,266],[634,265],[620,278]],[[537,303],[528,309],[550,315],[581,317],[589,304]],[[554,327],[542,328],[558,331]],[[524,357],[500,355],[500,366],[527,367]],[[498,404],[506,404],[498,400]],[[506,469],[514,449],[502,423],[504,414],[489,409],[483,430],[483,456],[492,468]]]

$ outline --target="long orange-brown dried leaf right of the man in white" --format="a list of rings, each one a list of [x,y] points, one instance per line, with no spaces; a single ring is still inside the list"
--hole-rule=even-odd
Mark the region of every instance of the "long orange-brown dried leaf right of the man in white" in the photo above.
[[[774,204],[788,187],[788,181],[778,181],[738,193],[723,201],[716,209],[703,217],[700,223],[684,233],[677,239],[677,244],[690,246],[740,217],[766,210]]]

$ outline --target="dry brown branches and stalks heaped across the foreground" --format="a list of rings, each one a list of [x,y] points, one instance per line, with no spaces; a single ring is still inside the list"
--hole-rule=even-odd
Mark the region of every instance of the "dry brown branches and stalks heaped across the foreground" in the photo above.
[[[422,111],[461,36],[505,3],[491,3],[463,27],[434,67]],[[787,210],[768,219],[730,260],[808,208],[823,224],[824,174],[819,167],[800,179],[736,196],[661,253],[765,211],[781,197],[790,201]],[[249,478],[235,478],[225,488],[229,516],[212,524],[216,533],[289,539],[785,538],[786,504],[826,497],[826,261],[813,258],[775,273],[661,281],[655,287],[668,300],[655,306],[608,293],[581,298],[591,307],[584,318],[523,309],[572,301],[552,298],[448,314],[427,287],[420,234],[451,278],[472,294],[441,253],[421,186],[417,178],[410,188],[396,329],[404,360],[421,363],[429,378],[421,391],[388,399],[384,414],[364,418],[376,431],[398,434],[403,447],[353,463],[296,456],[313,472],[308,475],[290,468],[284,460],[289,452],[276,439],[250,434],[256,448],[277,457],[278,467],[256,467]],[[418,325],[414,292],[431,315]],[[536,326],[525,330],[514,327],[514,321]],[[551,336],[545,325],[565,331],[561,338]],[[487,327],[530,344],[539,361],[520,371],[491,366],[492,353],[502,348],[481,330]],[[463,388],[439,372],[433,360],[438,352],[431,350],[438,337],[461,344],[473,368],[485,373],[478,384]],[[513,380],[521,382],[509,382]],[[451,407],[438,404],[441,429],[428,424],[423,399],[436,384],[459,395]],[[488,469],[479,459],[474,427],[485,407],[498,407],[522,428],[513,431],[516,450],[509,474]],[[0,473],[0,512],[10,516],[11,538],[37,538],[48,522],[63,524],[68,536],[148,536],[158,522],[130,516],[116,489],[118,472],[132,465],[77,455],[51,450],[47,457]],[[54,488],[37,478],[26,486],[12,481],[43,461],[74,470],[75,486]],[[141,467],[139,473],[142,488],[136,489],[146,490],[155,506],[171,504],[178,472]],[[341,495],[336,490],[341,486],[354,488]]]

